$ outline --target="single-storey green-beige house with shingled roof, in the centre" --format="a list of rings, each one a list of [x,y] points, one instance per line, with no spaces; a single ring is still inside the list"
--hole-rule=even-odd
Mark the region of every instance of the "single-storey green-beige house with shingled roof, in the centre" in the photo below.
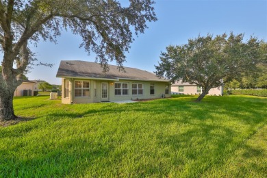
[[[170,82],[137,68],[109,65],[110,71],[95,62],[61,61],[56,77],[62,78],[62,103],[96,103],[170,97]]]

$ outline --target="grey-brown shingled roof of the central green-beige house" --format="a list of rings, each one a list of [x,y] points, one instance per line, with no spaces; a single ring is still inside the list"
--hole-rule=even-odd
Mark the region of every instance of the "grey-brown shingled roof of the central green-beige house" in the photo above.
[[[141,81],[165,81],[153,73],[142,71],[138,68],[125,67],[125,72],[118,71],[117,66],[109,65],[110,71],[103,73],[99,63],[79,60],[62,60],[56,77],[62,78],[88,78],[88,79],[129,79]]]

